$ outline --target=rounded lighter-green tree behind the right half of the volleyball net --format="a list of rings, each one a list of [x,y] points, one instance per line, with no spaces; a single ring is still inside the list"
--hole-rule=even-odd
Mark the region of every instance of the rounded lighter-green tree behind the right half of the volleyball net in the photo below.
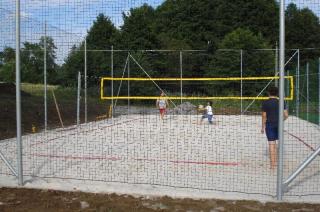
[[[254,34],[248,29],[238,28],[227,34],[219,45],[206,73],[215,77],[239,77],[241,70],[240,51],[243,50],[243,76],[272,76],[274,75],[274,52],[260,49],[269,49],[270,45],[261,33]],[[227,49],[227,50],[223,50]],[[229,51],[228,49],[233,49]],[[220,83],[217,87],[221,93],[226,93],[225,87],[236,87],[238,83]],[[257,87],[256,87],[257,88]],[[257,88],[258,89],[258,88]],[[251,88],[244,88],[247,94]],[[256,93],[253,91],[253,93]]]

